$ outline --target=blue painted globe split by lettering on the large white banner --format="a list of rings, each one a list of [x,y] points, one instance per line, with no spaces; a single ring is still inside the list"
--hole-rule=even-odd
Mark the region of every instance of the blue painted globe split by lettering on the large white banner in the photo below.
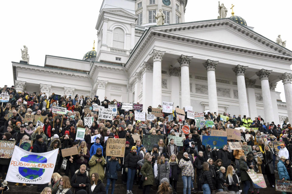
[[[30,163],[47,163],[47,158],[38,155],[27,155],[23,156],[20,161],[30,162]],[[45,169],[42,168],[27,168],[19,167],[19,173],[26,179],[36,179],[43,175]]]

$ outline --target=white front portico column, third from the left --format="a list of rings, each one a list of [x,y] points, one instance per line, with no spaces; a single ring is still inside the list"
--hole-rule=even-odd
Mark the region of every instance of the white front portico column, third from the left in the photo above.
[[[211,112],[217,112],[217,113],[218,113],[218,100],[217,100],[215,70],[216,70],[216,66],[218,62],[219,61],[213,61],[213,60],[207,59],[207,61],[203,63],[204,67],[207,70],[209,109]]]

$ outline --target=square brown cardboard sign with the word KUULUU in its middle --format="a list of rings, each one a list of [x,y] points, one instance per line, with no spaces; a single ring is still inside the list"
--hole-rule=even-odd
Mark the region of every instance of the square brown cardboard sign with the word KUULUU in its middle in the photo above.
[[[109,138],[106,142],[106,156],[124,157],[126,139]]]

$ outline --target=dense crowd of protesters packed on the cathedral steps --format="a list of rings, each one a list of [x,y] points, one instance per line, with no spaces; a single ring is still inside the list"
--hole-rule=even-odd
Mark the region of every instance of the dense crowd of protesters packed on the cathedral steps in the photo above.
[[[123,171],[122,180],[127,185],[127,194],[133,193],[134,184],[139,185],[143,194],[149,193],[153,185],[157,186],[157,193],[176,193],[180,175],[184,194],[210,194],[213,191],[247,194],[249,190],[257,194],[259,189],[253,187],[247,173],[250,170],[266,175],[270,187],[275,187],[275,173],[279,174],[281,180],[292,178],[292,128],[286,122],[280,126],[274,122],[265,122],[261,116],[251,119],[246,115],[241,117],[225,112],[223,115],[227,120],[224,122],[219,113],[205,112],[204,119],[213,121],[214,125],[197,128],[195,120],[188,119],[187,114],[184,121],[177,119],[176,111],[163,113],[162,117],[153,121],[137,121],[134,110],[123,110],[121,102],[108,100],[106,96],[103,100],[98,96],[91,98],[78,95],[55,98],[54,93],[47,96],[42,92],[16,92],[13,86],[5,86],[0,91],[9,93],[9,102],[1,107],[0,140],[16,141],[16,145],[21,139],[33,140],[31,149],[36,153],[59,149],[52,182],[46,185],[48,187],[38,185],[38,190],[43,190],[42,193],[105,194],[111,189],[113,194],[118,171]],[[118,114],[113,120],[99,119],[98,112],[95,111],[85,114],[84,109],[93,104],[105,108],[109,104],[116,104]],[[52,113],[52,106],[66,107],[68,112],[55,115]],[[151,108],[148,106],[148,113]],[[7,117],[9,113],[12,114]],[[44,125],[35,129],[33,122],[23,122],[27,114],[45,116]],[[92,126],[84,125],[84,117],[93,117]],[[189,126],[189,134],[182,132],[183,125]],[[240,129],[244,140],[239,143],[252,146],[252,151],[247,154],[242,150],[231,150],[228,144],[221,149],[212,149],[210,145],[202,144],[202,136],[211,135],[211,129],[224,131],[242,126],[257,128],[257,131]],[[77,128],[86,130],[83,141],[75,139]],[[100,138],[97,137],[96,142],[91,143],[91,136],[98,134]],[[134,141],[133,134],[138,134],[140,140]],[[152,150],[143,146],[143,135],[149,134],[161,137]],[[175,140],[171,138],[176,134],[185,136],[183,146],[176,146]],[[108,138],[126,139],[124,158],[105,155]],[[278,152],[273,147],[273,141],[282,142]],[[238,140],[228,139],[227,142]],[[61,149],[74,146],[78,147],[78,155],[62,157]],[[183,152],[182,158],[178,158],[180,150]],[[258,156],[259,152],[262,152],[262,158]],[[64,160],[68,162],[62,169]],[[277,170],[276,160],[279,160]],[[3,179],[9,161],[10,159],[0,158]],[[65,175],[60,176],[60,171]],[[103,179],[107,179],[106,185],[103,184]],[[15,185],[18,186],[19,183]],[[23,183],[23,186],[26,184]]]

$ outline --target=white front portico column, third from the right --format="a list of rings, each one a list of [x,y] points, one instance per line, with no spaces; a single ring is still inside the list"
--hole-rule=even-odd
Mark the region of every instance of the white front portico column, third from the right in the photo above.
[[[235,72],[237,78],[238,105],[239,112],[242,116],[249,113],[244,78],[245,70],[247,67],[248,66],[237,65],[235,68],[232,69]]]

